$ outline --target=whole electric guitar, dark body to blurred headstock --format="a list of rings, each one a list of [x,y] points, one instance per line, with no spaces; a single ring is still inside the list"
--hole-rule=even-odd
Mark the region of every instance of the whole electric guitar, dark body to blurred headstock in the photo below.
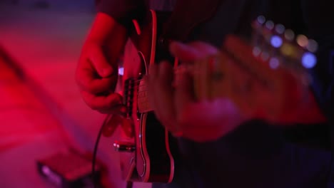
[[[166,15],[162,16],[166,19]],[[165,56],[158,45],[161,21],[155,11],[143,23],[133,21],[135,33],[124,56],[123,90],[126,119],[134,135],[114,143],[121,154],[123,178],[130,182],[171,182],[174,173],[175,140],[160,125],[148,104],[143,79],[148,67]],[[163,21],[162,21],[163,22]],[[252,24],[251,42],[227,36],[221,53],[191,65],[178,66],[191,71],[198,99],[231,98],[249,116],[279,120],[283,112],[303,103],[312,82],[307,68],[315,66],[315,41],[295,37],[293,31],[259,16]],[[297,39],[295,42],[295,39]],[[173,59],[169,59],[173,61]],[[174,63],[177,63],[175,61]],[[295,98],[287,93],[295,90]],[[289,96],[289,98],[287,98]]]

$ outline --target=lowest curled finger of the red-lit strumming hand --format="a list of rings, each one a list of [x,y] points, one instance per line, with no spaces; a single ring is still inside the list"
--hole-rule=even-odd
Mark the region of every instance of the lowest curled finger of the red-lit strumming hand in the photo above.
[[[110,95],[93,95],[85,91],[81,92],[85,103],[93,110],[109,111],[115,110],[116,107],[122,105],[122,97],[118,93]]]

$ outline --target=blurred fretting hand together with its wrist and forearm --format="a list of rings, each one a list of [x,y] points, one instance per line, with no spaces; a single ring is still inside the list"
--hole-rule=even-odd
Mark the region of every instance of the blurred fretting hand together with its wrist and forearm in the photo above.
[[[191,63],[218,53],[217,48],[203,42],[188,45],[173,42],[170,51],[182,63]],[[223,52],[221,53],[223,54]],[[229,59],[228,56],[226,58],[226,61],[231,63],[229,71],[233,71],[234,76],[242,78],[243,75],[247,75],[241,68],[234,65],[232,59]],[[198,142],[216,140],[242,122],[251,119],[262,119],[275,125],[311,124],[325,121],[325,117],[315,103],[313,93],[308,88],[300,87],[296,80],[290,79],[290,76],[284,81],[284,87],[288,88],[282,96],[285,98],[285,110],[280,113],[279,117],[275,118],[265,115],[263,113],[265,109],[260,107],[254,108],[253,112],[246,114],[238,108],[240,106],[236,105],[234,103],[236,101],[231,98],[196,99],[193,75],[185,71],[177,74],[176,78],[176,84],[172,85],[175,78],[173,67],[168,62],[151,66],[148,75],[151,106],[158,120],[176,136]],[[249,79],[252,80],[252,78]],[[253,84],[258,83],[253,82]],[[258,98],[261,96],[259,95]],[[295,103],[296,98],[304,100]],[[275,105],[275,101],[272,101],[271,105]]]

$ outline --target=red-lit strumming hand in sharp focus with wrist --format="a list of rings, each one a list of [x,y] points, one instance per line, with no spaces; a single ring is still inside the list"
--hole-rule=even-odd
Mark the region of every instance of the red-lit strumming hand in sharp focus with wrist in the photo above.
[[[110,16],[99,13],[83,45],[76,82],[85,103],[100,113],[123,109],[121,95],[114,90],[118,78],[117,61],[125,42],[125,28]]]

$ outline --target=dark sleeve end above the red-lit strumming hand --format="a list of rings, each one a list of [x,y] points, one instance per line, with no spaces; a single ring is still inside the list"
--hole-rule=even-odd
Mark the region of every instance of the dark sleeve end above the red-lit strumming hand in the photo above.
[[[132,19],[143,18],[147,7],[146,0],[101,0],[98,3],[98,12],[108,14],[128,27]]]

